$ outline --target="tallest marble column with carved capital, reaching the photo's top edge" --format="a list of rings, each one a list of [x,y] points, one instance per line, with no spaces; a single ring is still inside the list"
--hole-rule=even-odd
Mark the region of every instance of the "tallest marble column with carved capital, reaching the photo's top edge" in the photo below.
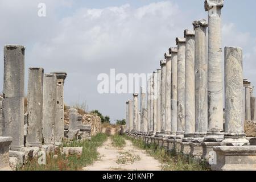
[[[223,76],[221,48],[221,9],[223,0],[205,1],[208,11],[208,132],[205,141],[220,142],[223,131]]]

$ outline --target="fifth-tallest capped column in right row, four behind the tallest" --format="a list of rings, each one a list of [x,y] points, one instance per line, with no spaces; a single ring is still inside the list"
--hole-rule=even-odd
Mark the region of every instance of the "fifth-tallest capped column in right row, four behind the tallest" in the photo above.
[[[172,61],[171,72],[171,138],[176,137],[177,132],[177,48],[169,49]]]

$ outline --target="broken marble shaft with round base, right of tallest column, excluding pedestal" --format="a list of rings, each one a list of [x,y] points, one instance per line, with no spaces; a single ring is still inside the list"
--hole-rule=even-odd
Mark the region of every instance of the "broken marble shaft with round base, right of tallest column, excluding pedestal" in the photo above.
[[[245,139],[243,121],[243,66],[242,49],[225,47],[225,139],[222,144],[243,146]]]

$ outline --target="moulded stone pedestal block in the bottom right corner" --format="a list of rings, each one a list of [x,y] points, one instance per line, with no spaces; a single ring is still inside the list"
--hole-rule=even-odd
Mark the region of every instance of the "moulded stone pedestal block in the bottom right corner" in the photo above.
[[[256,171],[256,146],[218,146],[213,171]]]

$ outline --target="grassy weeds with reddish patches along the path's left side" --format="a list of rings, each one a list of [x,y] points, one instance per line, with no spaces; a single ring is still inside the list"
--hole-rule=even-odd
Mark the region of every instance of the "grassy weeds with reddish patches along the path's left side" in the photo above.
[[[46,165],[39,165],[38,159],[32,159],[22,168],[20,171],[79,171],[82,167],[86,167],[93,164],[99,158],[97,147],[100,147],[107,136],[105,134],[97,134],[92,139],[85,141],[72,141],[63,143],[63,147],[82,147],[81,156],[65,156],[56,151],[56,159],[53,159],[53,154],[48,155],[46,159]]]

